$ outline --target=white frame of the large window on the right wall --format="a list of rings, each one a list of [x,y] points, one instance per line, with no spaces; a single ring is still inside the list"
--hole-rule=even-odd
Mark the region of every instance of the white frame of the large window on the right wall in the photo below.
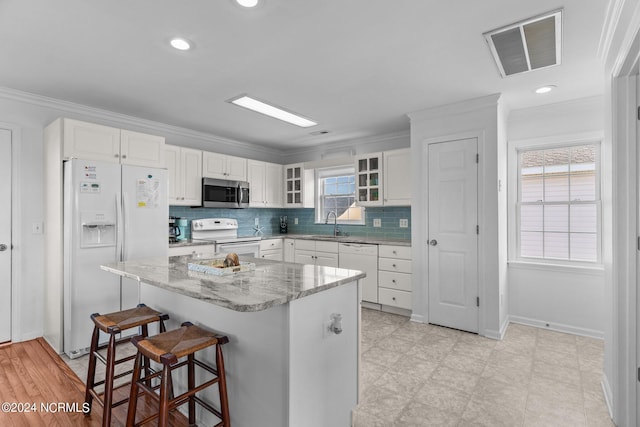
[[[565,137],[547,137],[519,141],[509,141],[508,143],[508,255],[509,263],[559,265],[579,268],[601,268],[602,267],[602,141],[601,133],[586,133],[570,135]],[[524,151],[560,149],[584,145],[596,145],[596,200],[594,201],[571,201],[557,202],[558,205],[579,205],[596,204],[597,209],[597,260],[578,261],[563,260],[554,258],[523,257],[520,255],[520,153]],[[526,203],[533,205],[534,203]],[[541,203],[541,206],[552,205],[554,202]]]

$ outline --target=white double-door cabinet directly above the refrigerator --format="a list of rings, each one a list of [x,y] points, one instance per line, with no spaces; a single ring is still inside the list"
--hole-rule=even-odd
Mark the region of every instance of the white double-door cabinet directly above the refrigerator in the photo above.
[[[164,167],[164,137],[64,120],[64,158]]]

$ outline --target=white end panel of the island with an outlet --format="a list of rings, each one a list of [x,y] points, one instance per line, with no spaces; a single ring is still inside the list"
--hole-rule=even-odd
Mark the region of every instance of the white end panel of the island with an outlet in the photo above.
[[[329,331],[333,313],[342,332]],[[358,403],[359,282],[289,303],[289,426],[348,427]]]

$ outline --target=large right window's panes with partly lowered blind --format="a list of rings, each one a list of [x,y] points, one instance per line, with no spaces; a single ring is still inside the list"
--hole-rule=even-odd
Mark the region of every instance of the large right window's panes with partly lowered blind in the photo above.
[[[600,262],[599,144],[518,152],[520,258]]]

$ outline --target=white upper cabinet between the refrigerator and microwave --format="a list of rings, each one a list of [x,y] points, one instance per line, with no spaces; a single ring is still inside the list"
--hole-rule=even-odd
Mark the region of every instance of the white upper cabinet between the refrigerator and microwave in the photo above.
[[[165,145],[165,165],[169,172],[169,204],[202,205],[202,151]]]

